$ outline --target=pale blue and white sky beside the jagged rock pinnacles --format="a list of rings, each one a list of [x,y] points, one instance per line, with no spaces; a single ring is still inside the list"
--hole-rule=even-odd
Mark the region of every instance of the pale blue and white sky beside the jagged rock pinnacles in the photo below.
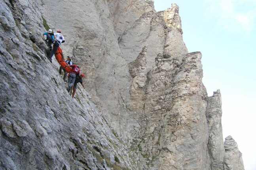
[[[208,96],[220,89],[224,139],[231,135],[245,170],[256,170],[256,0],[154,0],[179,6],[183,41],[202,53]]]

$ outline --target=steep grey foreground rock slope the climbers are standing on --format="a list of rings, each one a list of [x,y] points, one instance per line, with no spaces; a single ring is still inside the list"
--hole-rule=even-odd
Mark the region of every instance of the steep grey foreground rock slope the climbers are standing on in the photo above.
[[[0,169],[133,169],[88,93],[73,100],[47,60],[39,6],[0,1]]]

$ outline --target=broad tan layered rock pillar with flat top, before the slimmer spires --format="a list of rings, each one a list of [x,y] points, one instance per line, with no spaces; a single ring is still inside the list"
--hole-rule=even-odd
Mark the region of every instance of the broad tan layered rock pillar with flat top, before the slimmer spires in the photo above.
[[[209,168],[201,53],[187,54],[181,64],[159,55],[148,78],[140,146],[154,165],[149,169]]]

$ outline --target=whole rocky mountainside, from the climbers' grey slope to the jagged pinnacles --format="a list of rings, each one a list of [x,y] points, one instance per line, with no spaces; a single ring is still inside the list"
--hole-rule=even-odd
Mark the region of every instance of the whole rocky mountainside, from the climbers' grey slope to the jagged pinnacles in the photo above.
[[[222,137],[178,6],[150,0],[0,0],[0,169],[243,170]],[[41,34],[61,29],[86,73],[66,92]]]

